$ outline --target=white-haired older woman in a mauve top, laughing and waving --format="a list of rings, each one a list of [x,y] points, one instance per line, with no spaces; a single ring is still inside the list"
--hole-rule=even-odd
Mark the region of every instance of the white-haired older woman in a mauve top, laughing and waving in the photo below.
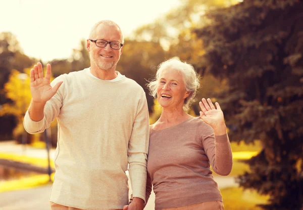
[[[194,68],[171,59],[160,64],[148,84],[162,113],[150,125],[146,200],[154,186],[156,209],[223,209],[210,166],[222,176],[232,168],[232,152],[218,103],[202,99],[199,117],[186,113],[199,79]]]

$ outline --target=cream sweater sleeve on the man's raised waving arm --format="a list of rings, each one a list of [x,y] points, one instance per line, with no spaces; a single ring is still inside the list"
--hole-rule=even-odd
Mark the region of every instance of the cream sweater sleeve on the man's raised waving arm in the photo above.
[[[61,75],[55,78],[51,82],[51,86],[54,87],[58,81],[64,81],[64,76]],[[51,125],[51,122],[56,119],[56,117],[60,114],[60,108],[63,104],[63,93],[65,82],[62,83],[57,93],[49,99],[44,106],[44,116],[40,121],[33,121],[30,116],[28,110],[25,113],[23,125],[24,129],[29,134],[37,134],[42,133],[45,129]]]

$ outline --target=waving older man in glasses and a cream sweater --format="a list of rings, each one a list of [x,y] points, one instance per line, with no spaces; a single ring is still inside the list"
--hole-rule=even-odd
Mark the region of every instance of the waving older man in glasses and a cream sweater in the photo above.
[[[41,63],[31,69],[26,131],[41,133],[58,119],[52,210],[122,209],[128,204],[127,170],[134,196],[129,209],[143,209],[148,109],[143,89],[116,71],[123,43],[116,23],[100,21],[87,39],[89,68],[52,83],[51,65],[45,77]]]

